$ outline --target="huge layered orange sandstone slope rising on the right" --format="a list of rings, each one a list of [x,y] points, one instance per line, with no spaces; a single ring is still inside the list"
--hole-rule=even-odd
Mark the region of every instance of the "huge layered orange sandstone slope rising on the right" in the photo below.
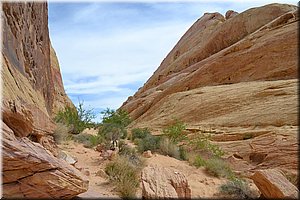
[[[177,118],[212,134],[238,171],[297,173],[298,20],[286,4],[205,13],[122,105],[131,127],[160,134]]]

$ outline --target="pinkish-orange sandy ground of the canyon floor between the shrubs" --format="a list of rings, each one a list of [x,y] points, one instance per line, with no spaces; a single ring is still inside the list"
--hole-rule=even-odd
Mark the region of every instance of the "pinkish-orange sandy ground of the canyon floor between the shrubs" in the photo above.
[[[96,131],[85,130],[85,133],[96,134]],[[130,141],[127,140],[130,144]],[[93,148],[86,148],[83,144],[69,140],[59,145],[59,148],[69,155],[77,158],[75,166],[85,174],[89,174],[89,189],[87,192],[78,195],[77,198],[120,198],[107,177],[105,177],[105,165],[110,162],[103,160],[100,153]],[[216,178],[207,174],[204,168],[196,168],[187,161],[177,160],[175,158],[154,153],[151,158],[145,158],[145,166],[157,166],[172,168],[175,171],[183,173],[191,188],[192,198],[221,198],[220,186],[226,183],[224,178]],[[101,171],[99,173],[99,171]],[[97,173],[98,172],[98,173]],[[257,189],[253,183],[250,187]],[[137,198],[142,198],[142,186],[140,185]]]

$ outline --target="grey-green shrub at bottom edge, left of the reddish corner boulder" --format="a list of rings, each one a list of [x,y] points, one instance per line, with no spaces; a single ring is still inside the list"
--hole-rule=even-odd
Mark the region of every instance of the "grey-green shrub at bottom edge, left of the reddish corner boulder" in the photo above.
[[[257,198],[255,192],[243,180],[233,178],[227,183],[220,186],[220,192],[230,195],[238,199],[255,199]]]

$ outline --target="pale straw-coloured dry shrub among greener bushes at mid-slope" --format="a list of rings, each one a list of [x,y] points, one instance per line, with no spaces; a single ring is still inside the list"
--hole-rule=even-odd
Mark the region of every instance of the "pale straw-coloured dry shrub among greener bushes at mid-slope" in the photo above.
[[[179,147],[169,138],[161,138],[159,142],[159,153],[180,159]]]

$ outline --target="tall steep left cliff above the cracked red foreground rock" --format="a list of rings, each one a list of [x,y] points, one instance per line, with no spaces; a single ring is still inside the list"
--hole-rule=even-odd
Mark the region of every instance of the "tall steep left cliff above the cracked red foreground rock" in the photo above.
[[[63,106],[58,101],[72,104],[50,52],[47,3],[3,3],[2,25],[3,121],[17,136],[37,141],[52,134],[54,108]]]

